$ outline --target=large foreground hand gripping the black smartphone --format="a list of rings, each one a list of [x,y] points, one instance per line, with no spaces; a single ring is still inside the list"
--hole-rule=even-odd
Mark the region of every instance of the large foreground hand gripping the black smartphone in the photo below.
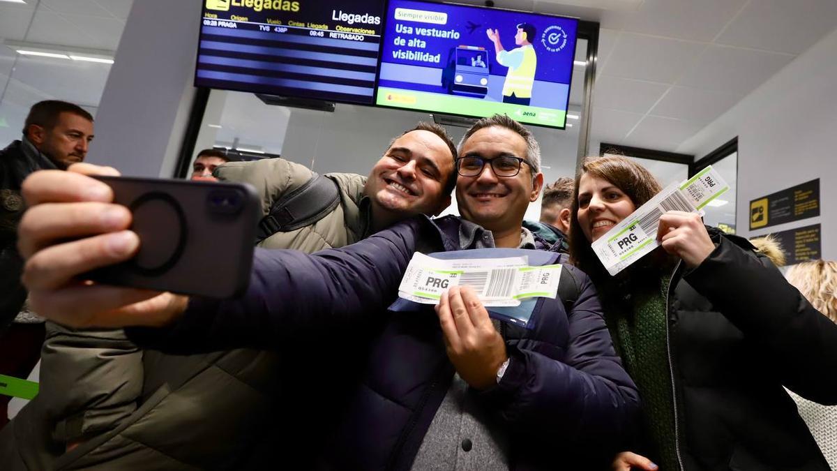
[[[128,230],[126,206],[112,204],[113,189],[90,178],[118,174],[75,163],[23,182],[28,210],[18,226],[18,247],[27,261],[23,283],[30,306],[41,316],[76,328],[160,326],[186,308],[188,298],[172,292],[83,281],[91,270],[130,260],[140,246]]]

